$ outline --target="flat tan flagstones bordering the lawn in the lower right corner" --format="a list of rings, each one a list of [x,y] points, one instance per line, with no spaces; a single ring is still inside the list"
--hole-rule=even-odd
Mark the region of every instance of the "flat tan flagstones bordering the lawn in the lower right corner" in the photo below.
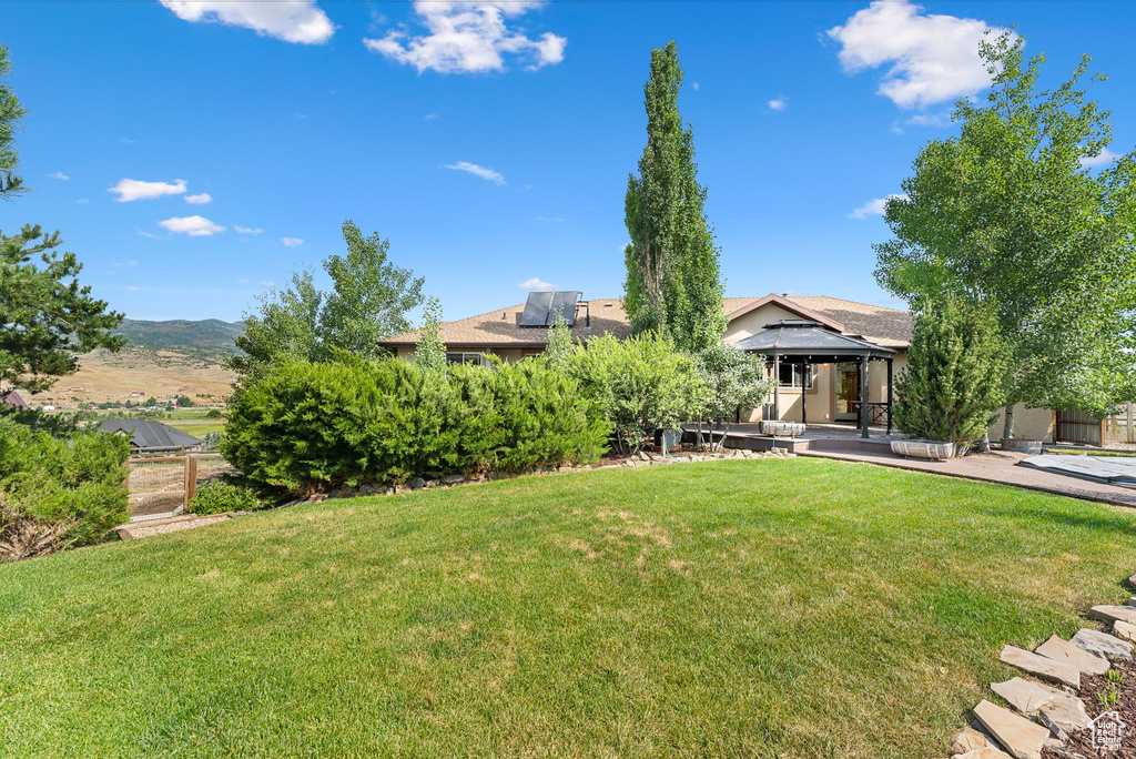
[[[1136,575],[1128,585],[1136,589]],[[991,683],[991,691],[1011,708],[983,699],[971,710],[975,722],[951,734],[951,759],[1042,759],[1043,750],[1081,756],[1066,750],[1070,734],[1091,724],[1078,695],[1080,676],[1100,676],[1113,661],[1131,661],[1136,597],[1125,607],[1094,606],[1088,616],[1111,623],[1113,634],[1083,627],[1068,641],[1054,635],[1031,652],[1002,648],[999,659],[1033,678]]]

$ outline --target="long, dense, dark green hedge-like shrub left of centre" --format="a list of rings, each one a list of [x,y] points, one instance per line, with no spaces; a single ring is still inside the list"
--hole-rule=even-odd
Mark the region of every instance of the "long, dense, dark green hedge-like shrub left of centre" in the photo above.
[[[344,357],[242,387],[222,451],[257,485],[311,492],[594,461],[608,429],[574,381],[536,361],[440,372]]]

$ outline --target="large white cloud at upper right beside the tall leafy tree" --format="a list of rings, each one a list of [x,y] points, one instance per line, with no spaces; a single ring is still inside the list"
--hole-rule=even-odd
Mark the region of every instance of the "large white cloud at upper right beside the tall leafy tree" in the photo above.
[[[841,44],[845,72],[887,66],[877,92],[901,108],[912,108],[989,86],[978,43],[991,28],[977,18],[925,14],[907,0],[876,0],[843,26],[828,30],[828,36]]]

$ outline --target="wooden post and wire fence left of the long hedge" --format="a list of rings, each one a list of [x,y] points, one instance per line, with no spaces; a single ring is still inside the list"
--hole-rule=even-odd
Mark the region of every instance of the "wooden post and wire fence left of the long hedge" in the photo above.
[[[233,467],[220,453],[156,456],[126,461],[131,519],[181,514],[198,485]]]

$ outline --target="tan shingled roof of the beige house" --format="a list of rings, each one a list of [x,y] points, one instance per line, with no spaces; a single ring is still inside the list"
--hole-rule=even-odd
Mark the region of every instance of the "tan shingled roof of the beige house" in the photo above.
[[[571,327],[573,337],[586,341],[604,333],[620,339],[630,334],[632,325],[624,312],[621,298],[598,298],[587,303],[591,328],[585,326],[586,320],[582,315]],[[862,336],[887,348],[904,349],[911,339],[911,316],[907,311],[838,298],[790,298],[775,294],[762,298],[725,298],[722,314],[733,320],[766,303],[775,303],[801,318],[819,322],[837,332]],[[525,305],[518,303],[465,319],[443,322],[438,325],[438,336],[450,349],[543,349],[548,343],[548,330],[521,327],[517,324],[524,309]],[[411,331],[383,340],[379,344],[386,348],[411,347],[417,339],[417,331]]]

